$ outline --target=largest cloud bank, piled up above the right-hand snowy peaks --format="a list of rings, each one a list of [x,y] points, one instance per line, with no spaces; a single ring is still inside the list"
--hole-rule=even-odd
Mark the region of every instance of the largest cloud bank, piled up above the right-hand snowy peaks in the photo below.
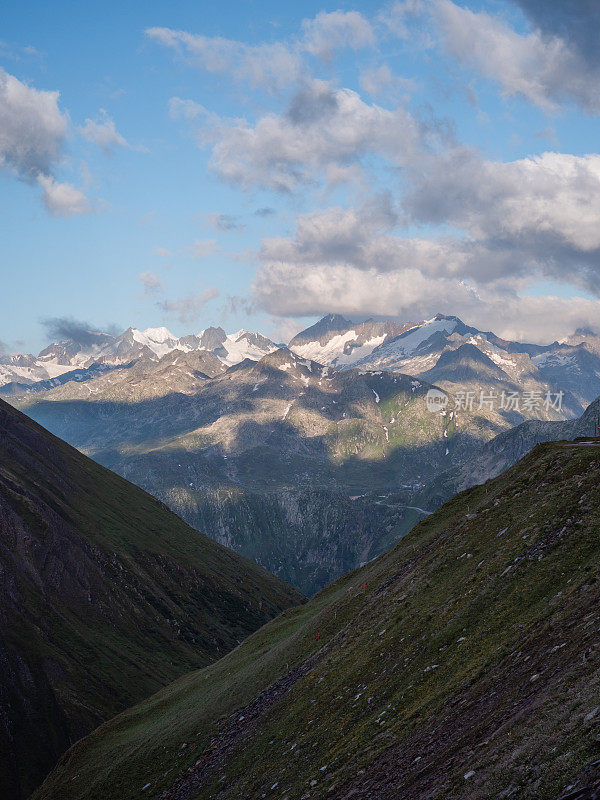
[[[383,195],[301,215],[294,236],[263,241],[255,305],[292,317],[421,319],[442,311],[538,340],[597,326],[596,300],[527,294],[541,277],[600,293],[599,165],[595,157],[573,159],[545,154],[501,164],[461,151],[454,163],[437,163],[431,185],[424,177],[404,208]],[[415,219],[464,234],[398,234]]]

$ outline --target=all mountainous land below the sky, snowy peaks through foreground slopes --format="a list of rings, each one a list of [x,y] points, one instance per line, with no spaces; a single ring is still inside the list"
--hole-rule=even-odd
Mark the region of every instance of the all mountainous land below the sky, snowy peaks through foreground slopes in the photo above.
[[[3,387],[0,787],[98,724],[35,800],[600,785],[597,337],[97,337]]]

